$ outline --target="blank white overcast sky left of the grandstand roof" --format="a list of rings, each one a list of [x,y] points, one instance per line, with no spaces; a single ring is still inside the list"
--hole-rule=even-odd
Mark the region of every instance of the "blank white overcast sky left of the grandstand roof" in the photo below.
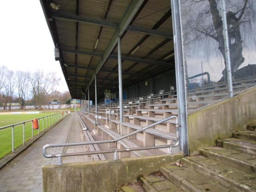
[[[56,72],[61,78],[58,90],[68,90],[39,0],[1,1],[0,18],[0,65]]]

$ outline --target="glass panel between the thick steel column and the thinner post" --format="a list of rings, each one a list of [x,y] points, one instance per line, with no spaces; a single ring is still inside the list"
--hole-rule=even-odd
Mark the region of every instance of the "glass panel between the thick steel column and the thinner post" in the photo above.
[[[229,97],[220,0],[181,0],[188,111]]]

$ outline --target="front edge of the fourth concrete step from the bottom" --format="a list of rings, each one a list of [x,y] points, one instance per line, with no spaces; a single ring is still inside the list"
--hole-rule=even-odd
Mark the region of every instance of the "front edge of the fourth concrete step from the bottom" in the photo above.
[[[236,169],[239,169],[243,172],[247,172],[250,174],[255,174],[256,175],[256,166],[250,165],[250,163],[247,163],[243,160],[239,160],[233,157],[229,157],[223,154],[219,154],[213,151],[210,151],[208,149],[200,149],[199,153],[212,160],[216,160],[218,162],[224,163],[228,166],[232,166]]]

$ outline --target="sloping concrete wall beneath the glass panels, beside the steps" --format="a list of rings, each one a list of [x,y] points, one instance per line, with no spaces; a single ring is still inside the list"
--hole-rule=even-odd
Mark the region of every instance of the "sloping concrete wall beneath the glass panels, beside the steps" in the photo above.
[[[214,146],[215,140],[231,137],[232,132],[242,130],[250,123],[256,123],[256,88],[189,114],[190,154]]]

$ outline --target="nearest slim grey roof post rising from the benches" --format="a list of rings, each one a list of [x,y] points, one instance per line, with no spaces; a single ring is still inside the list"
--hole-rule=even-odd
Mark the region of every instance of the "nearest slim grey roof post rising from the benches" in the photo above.
[[[122,105],[122,55],[121,55],[121,38],[117,37],[117,49],[118,49],[118,80],[119,80],[119,110],[120,110],[120,124],[123,122],[123,105]],[[119,130],[122,130],[120,128]]]

